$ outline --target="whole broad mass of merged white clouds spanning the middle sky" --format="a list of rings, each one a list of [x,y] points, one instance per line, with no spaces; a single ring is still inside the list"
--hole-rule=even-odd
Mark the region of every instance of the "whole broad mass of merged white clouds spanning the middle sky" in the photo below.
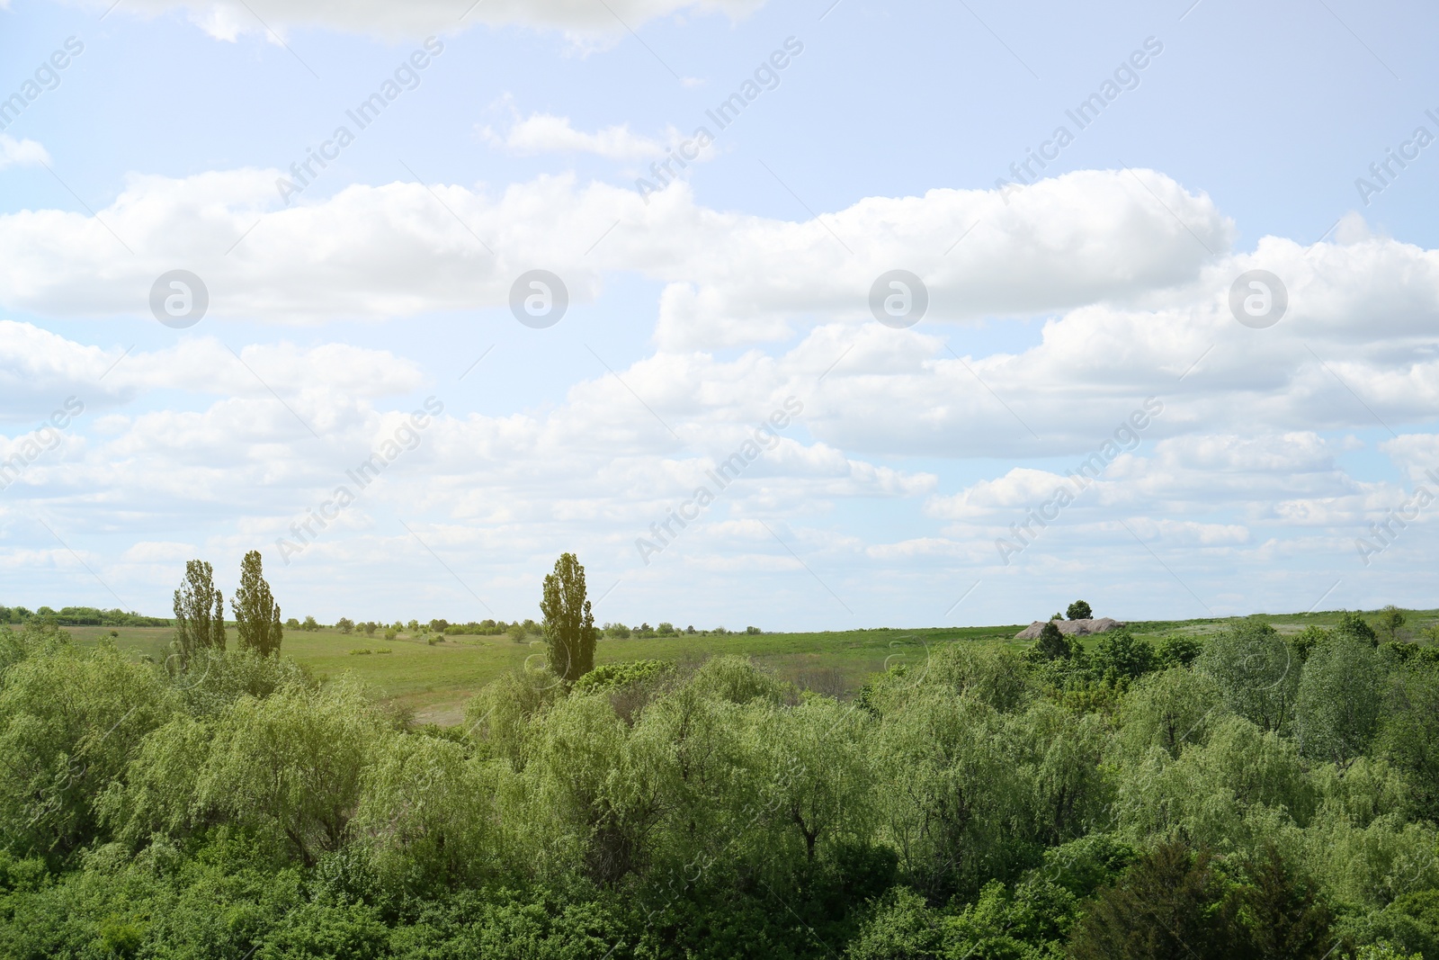
[[[1379,449],[1409,486],[1439,456],[1426,432],[1439,410],[1439,253],[1354,225],[1344,242],[1263,237],[1233,250],[1232,226],[1207,197],[1153,173],[1140,176],[1163,204],[1128,174],[1085,171],[1009,203],[934,190],[802,222],[705,209],[684,184],[646,204],[573,177],[501,193],[433,187],[443,203],[420,184],[351,186],[279,209],[275,176],[135,177],[101,212],[137,237],[135,256],[83,216],[3,216],[0,304],[144,315],[154,276],[176,266],[206,278],[217,318],[281,324],[498,307],[535,263],[581,301],[619,271],[662,285],[653,353],[619,376],[578,379],[550,406],[498,415],[456,404],[307,547],[295,577],[312,570],[322,580],[374,556],[433,566],[410,528],[442,556],[505,558],[583,528],[587,556],[625,571],[626,589],[673,590],[682,574],[743,587],[754,570],[771,570],[813,574],[849,596],[891,589],[886,577],[904,573],[953,589],[950,603],[974,580],[940,583],[943,571],[1010,577],[1023,567],[1035,583],[1066,583],[1097,567],[1151,576],[1161,556],[1177,593],[1243,607],[1248,587],[1216,570],[1263,584],[1281,560],[1297,569],[1340,557],[1361,569],[1354,538],[1407,492],[1345,469],[1345,455],[1366,443],[1356,433],[1400,433]],[[868,312],[869,284],[895,266],[931,291],[927,321],[909,330]],[[1230,285],[1250,269],[1288,289],[1288,312],[1268,330],[1229,311]],[[966,345],[966,324],[1036,317],[1017,328],[1032,335],[1006,348]],[[85,387],[95,413],[32,465],[0,520],[13,520],[19,502],[60,520],[99,511],[118,530],[178,543],[189,534],[153,530],[163,515],[184,530],[180,520],[224,504],[235,518],[226,548],[273,544],[393,435],[409,403],[400,397],[429,384],[399,353],[337,343],[278,340],[236,357],[187,335],[117,364],[119,356],[0,324],[0,413],[13,436],[50,403],[22,397]],[[186,400],[118,412],[155,390]],[[787,397],[803,403],[794,429],[685,530],[684,547],[639,564],[636,537]],[[996,538],[1013,537],[1147,399],[1163,409],[1140,442],[1121,443],[1062,522],[1003,566]],[[928,459],[892,459],[911,456]],[[930,466],[961,459],[971,463],[957,489]],[[848,501],[908,501],[918,517],[894,534],[856,531],[837,520]],[[125,563],[140,571],[161,554]],[[1423,540],[1410,537],[1383,560],[1422,556]],[[514,570],[486,570],[494,589],[527,589]],[[1334,583],[1321,579],[1297,589],[1312,586],[1297,609]]]

